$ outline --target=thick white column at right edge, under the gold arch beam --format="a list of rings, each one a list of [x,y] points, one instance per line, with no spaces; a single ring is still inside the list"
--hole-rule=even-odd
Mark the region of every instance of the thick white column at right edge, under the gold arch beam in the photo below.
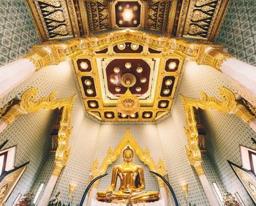
[[[230,77],[235,82],[243,85],[250,93],[256,97],[256,67],[246,64],[236,58],[228,58],[221,66],[223,74]]]

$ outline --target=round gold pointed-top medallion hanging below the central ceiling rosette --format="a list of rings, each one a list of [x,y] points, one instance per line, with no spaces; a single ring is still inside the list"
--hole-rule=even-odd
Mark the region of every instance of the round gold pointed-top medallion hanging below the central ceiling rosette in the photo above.
[[[140,101],[127,88],[127,92],[117,99],[116,110],[122,115],[134,115],[140,110]]]

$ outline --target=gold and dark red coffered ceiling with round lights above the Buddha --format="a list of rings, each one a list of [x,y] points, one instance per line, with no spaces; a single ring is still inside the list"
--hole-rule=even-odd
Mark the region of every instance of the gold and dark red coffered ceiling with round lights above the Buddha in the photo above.
[[[129,46],[129,47],[128,47]],[[120,42],[73,60],[86,111],[101,121],[156,121],[170,112],[184,64],[137,42]],[[132,115],[117,112],[118,97],[129,91],[140,100]]]

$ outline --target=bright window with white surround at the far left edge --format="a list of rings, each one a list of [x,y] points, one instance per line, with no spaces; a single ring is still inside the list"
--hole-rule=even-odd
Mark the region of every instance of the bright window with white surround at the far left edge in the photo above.
[[[0,151],[0,174],[14,168],[16,147]]]

